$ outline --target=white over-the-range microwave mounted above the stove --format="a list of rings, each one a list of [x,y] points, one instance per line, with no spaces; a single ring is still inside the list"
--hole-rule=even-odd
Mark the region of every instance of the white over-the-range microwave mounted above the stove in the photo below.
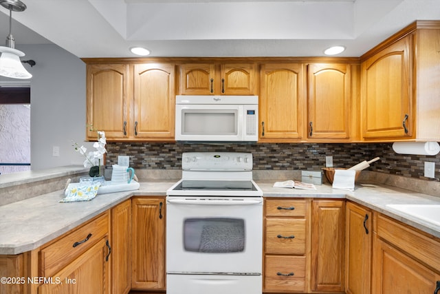
[[[176,96],[175,139],[184,142],[256,142],[258,96]]]

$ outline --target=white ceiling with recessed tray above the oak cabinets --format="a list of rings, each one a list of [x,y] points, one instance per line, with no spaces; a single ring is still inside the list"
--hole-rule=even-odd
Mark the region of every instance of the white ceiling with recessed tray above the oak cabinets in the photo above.
[[[339,56],[361,56],[415,20],[440,20],[439,0],[22,1],[17,48],[55,43],[80,58],[134,57],[133,46],[151,56],[323,56],[344,45]],[[8,33],[0,7],[0,42]]]

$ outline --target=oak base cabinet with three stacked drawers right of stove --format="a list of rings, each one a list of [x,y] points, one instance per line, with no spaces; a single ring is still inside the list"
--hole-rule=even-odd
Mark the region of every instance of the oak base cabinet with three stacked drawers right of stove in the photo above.
[[[265,199],[263,291],[305,293],[309,287],[310,199]]]

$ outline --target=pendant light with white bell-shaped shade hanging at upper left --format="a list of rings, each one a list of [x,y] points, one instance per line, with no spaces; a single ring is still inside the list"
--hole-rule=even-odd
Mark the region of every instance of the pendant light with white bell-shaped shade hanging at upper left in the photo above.
[[[20,0],[0,0],[1,6],[9,10],[9,35],[6,38],[6,45],[0,46],[0,76],[8,78],[32,78],[20,61],[23,52],[15,49],[14,37],[11,34],[12,11],[21,12],[26,6]]]

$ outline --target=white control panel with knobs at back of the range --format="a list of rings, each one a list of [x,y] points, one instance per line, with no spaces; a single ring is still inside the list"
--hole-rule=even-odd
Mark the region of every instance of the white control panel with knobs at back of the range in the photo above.
[[[181,168],[185,171],[252,171],[252,153],[184,152]]]

